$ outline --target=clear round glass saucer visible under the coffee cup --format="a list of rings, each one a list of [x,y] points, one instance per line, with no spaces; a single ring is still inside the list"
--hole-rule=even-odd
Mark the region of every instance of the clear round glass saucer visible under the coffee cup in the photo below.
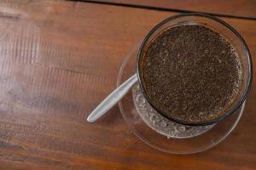
[[[119,69],[117,86],[136,72],[137,50],[133,48]],[[222,122],[191,127],[172,122],[148,105],[138,82],[119,101],[119,110],[131,131],[154,149],[172,154],[192,154],[207,150],[224,140],[239,122],[245,102]]]

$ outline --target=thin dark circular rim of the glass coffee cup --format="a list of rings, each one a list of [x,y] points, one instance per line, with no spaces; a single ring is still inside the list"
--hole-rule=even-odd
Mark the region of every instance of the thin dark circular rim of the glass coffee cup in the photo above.
[[[248,63],[249,63],[249,77],[247,80],[247,86],[245,88],[244,93],[241,95],[241,99],[239,99],[239,101],[236,103],[236,105],[234,105],[234,107],[230,110],[225,112],[222,116],[218,116],[215,119],[209,120],[209,121],[205,121],[205,122],[186,122],[186,121],[182,121],[182,120],[178,120],[175,117],[167,117],[165,114],[163,114],[159,109],[157,109],[150,101],[150,99],[148,98],[148,96],[145,93],[145,88],[143,86],[143,81],[142,81],[142,77],[140,74],[140,70],[141,70],[141,66],[140,66],[140,59],[141,56],[143,54],[143,48],[145,47],[146,43],[148,42],[149,37],[151,37],[151,35],[154,33],[154,31],[157,31],[160,26],[163,26],[164,24],[166,24],[167,22],[171,21],[171,20],[175,20],[177,18],[180,17],[186,17],[186,16],[200,16],[200,17],[204,17],[210,20],[215,20],[217,21],[219,24],[225,26],[226,28],[228,28],[230,31],[232,31],[236,37],[238,37],[238,39],[241,41],[241,43],[244,45],[246,54],[247,54],[247,59],[248,59]],[[139,82],[139,86],[142,90],[142,94],[145,97],[145,99],[148,100],[149,105],[151,105],[154,110],[158,111],[162,116],[165,116],[167,119],[170,119],[174,122],[177,123],[181,123],[184,125],[189,125],[189,126],[206,126],[206,125],[210,125],[212,123],[217,123],[220,122],[222,120],[224,120],[224,118],[226,118],[227,116],[230,116],[231,114],[233,114],[237,109],[240,108],[240,106],[242,105],[242,103],[244,102],[244,100],[247,97],[247,94],[249,92],[249,89],[251,88],[252,85],[252,81],[253,81],[253,62],[252,62],[252,56],[251,53],[249,51],[249,48],[247,47],[247,43],[245,42],[245,40],[243,39],[243,37],[241,37],[241,34],[236,31],[236,29],[233,26],[230,26],[228,23],[226,23],[224,20],[220,20],[215,16],[212,16],[210,14],[203,14],[203,13],[183,13],[183,14],[176,14],[173,15],[171,17],[166,18],[165,20],[160,21],[160,23],[158,23],[156,26],[154,26],[147,34],[147,36],[143,39],[143,42],[140,45],[140,48],[138,49],[138,53],[137,53],[137,78],[138,78],[138,82]]]

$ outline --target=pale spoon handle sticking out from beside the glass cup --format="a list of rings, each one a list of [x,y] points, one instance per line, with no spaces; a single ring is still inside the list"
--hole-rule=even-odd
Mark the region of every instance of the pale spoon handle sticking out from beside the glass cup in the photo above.
[[[137,74],[130,77],[119,88],[116,88],[106,99],[102,101],[100,105],[97,105],[96,109],[90,113],[87,117],[87,122],[95,122],[98,118],[104,115],[109,109],[122,99],[130,88],[137,82]]]

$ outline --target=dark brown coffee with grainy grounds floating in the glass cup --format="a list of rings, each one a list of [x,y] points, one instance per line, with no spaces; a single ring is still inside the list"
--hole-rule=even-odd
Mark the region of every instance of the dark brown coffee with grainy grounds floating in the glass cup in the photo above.
[[[224,115],[241,87],[236,48],[206,26],[174,26],[143,49],[144,94],[157,111],[180,122]]]

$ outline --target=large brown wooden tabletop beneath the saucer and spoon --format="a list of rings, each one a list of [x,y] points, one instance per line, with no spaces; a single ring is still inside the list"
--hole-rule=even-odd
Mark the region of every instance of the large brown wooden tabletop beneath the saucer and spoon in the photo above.
[[[0,169],[256,169],[255,79],[235,131],[199,154],[150,148],[125,126],[117,106],[85,122],[115,88],[125,54],[177,12],[224,14],[255,63],[255,1],[234,1],[236,10],[224,1],[212,8],[212,1],[189,2],[1,1]]]

